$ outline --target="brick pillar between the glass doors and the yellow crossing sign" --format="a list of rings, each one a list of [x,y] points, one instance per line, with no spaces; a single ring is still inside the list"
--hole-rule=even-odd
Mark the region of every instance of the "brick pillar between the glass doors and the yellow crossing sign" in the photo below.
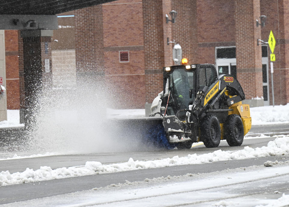
[[[244,89],[247,102],[263,96],[262,50],[257,46],[261,37],[256,19],[260,18],[260,0],[235,1],[235,41],[237,79]],[[246,87],[244,87],[246,86]],[[255,105],[264,105],[262,99]]]

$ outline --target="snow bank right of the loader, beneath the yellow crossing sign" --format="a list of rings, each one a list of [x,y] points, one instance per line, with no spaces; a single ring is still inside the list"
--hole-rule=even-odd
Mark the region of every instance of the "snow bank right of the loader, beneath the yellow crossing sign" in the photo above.
[[[250,108],[252,125],[289,123],[289,103]]]

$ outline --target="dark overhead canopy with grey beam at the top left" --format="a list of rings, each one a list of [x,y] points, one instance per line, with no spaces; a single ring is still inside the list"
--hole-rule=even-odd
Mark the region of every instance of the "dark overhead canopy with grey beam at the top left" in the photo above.
[[[56,14],[112,1],[115,0],[1,1],[0,30],[56,30]]]

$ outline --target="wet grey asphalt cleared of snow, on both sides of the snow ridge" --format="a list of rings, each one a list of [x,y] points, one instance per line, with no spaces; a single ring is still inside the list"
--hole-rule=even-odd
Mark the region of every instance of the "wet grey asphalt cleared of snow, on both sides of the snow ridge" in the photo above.
[[[257,136],[261,133],[272,134],[289,134],[289,124],[280,125],[265,125],[252,127],[248,136]],[[85,165],[86,161],[98,161],[103,164],[127,162],[130,157],[134,160],[161,159],[173,156],[187,156],[188,154],[204,154],[213,152],[218,149],[239,150],[244,149],[244,146],[252,148],[266,146],[274,136],[257,139],[245,139],[242,146],[230,147],[226,141],[222,141],[218,148],[205,148],[199,144],[191,149],[169,150],[169,151],[145,151],[145,152],[110,152],[110,153],[95,153],[82,155],[55,155],[37,158],[11,159],[0,160],[0,171],[8,170],[10,173],[24,171],[26,168],[39,169],[40,166],[50,166],[51,168],[81,166]],[[41,198],[45,196],[58,195],[63,193],[76,192],[81,190],[89,190],[94,187],[105,187],[112,183],[124,183],[125,180],[141,181],[145,178],[161,177],[168,175],[183,175],[186,173],[203,173],[212,171],[221,171],[227,168],[248,167],[252,165],[263,165],[264,162],[271,160],[286,161],[289,156],[271,156],[265,158],[253,158],[246,160],[234,160],[226,162],[213,162],[200,165],[183,165],[169,168],[156,168],[136,171],[126,171],[111,174],[98,174],[83,177],[74,177],[58,180],[49,180],[37,183],[24,183],[19,185],[11,185],[0,187],[0,204],[22,201],[33,198]]]

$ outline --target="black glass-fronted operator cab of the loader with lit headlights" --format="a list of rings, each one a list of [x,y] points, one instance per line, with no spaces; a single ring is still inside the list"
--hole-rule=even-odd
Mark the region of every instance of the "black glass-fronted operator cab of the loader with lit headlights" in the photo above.
[[[175,115],[181,109],[188,109],[196,93],[204,86],[210,86],[217,78],[212,64],[176,65],[163,68],[163,91],[171,95],[168,102],[168,115]],[[167,103],[167,98],[163,103]],[[181,114],[180,114],[181,115]],[[183,114],[185,117],[185,113]]]

